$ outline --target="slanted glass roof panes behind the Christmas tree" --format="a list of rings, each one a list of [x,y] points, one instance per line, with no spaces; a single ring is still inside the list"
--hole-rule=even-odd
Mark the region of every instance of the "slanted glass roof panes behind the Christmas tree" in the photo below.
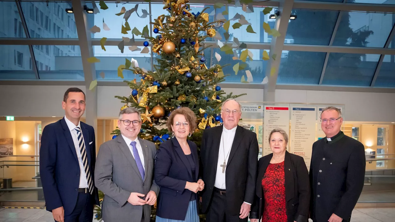
[[[317,4],[343,2],[343,0],[308,1]],[[389,7],[393,7],[395,11],[395,0],[345,1],[346,4],[394,5]],[[295,0],[295,2],[299,1]],[[152,70],[152,66],[157,64],[158,55],[151,52],[151,45],[148,47],[148,52],[143,53],[141,53],[143,46],[134,47],[134,51],[131,51],[129,46],[133,43],[125,43],[123,52],[120,50],[117,45],[122,38],[127,40],[127,38],[132,39],[133,36],[130,31],[128,34],[121,34],[125,20],[123,15],[115,14],[119,13],[122,7],[126,10],[137,8],[137,13],[132,13],[129,24],[132,30],[137,28],[142,32],[147,25],[150,30],[149,23],[152,19],[166,13],[161,3],[160,0],[153,0],[152,3],[128,4],[116,4],[113,1],[106,3],[107,10],[100,9],[99,2],[87,3],[88,8],[94,8],[95,5],[97,7],[95,14],[84,13],[87,17],[85,29],[90,33],[91,38],[96,40],[92,46],[93,55],[100,59],[100,62],[93,64],[98,81],[122,81],[123,79],[117,75],[117,68],[120,64],[124,64],[125,58],[129,60],[134,58],[139,66],[146,70]],[[17,7],[17,4],[20,7]],[[210,21],[218,19],[231,21],[229,37],[225,35],[224,28],[220,27],[217,29],[216,37],[207,39],[214,45],[205,50],[205,64],[207,66],[216,63],[228,64],[224,68],[225,75],[228,75],[226,82],[245,84],[241,83],[241,79],[243,77],[246,79],[246,72],[250,72],[252,74],[252,78],[248,79],[250,84],[262,83],[264,77],[270,75],[266,72],[271,62],[264,60],[262,54],[263,51],[269,54],[273,39],[273,36],[265,32],[262,24],[265,22],[271,28],[276,27],[276,19],[270,19],[269,15],[275,14],[277,9],[273,8],[270,13],[264,15],[262,13],[264,7],[259,5],[247,10],[243,10],[243,7],[235,8],[233,5],[222,8],[203,4],[190,5],[191,12],[194,13],[206,7],[209,7],[206,12],[209,13]],[[1,43],[0,80],[85,80],[80,42],[77,40],[79,39],[77,26],[83,24],[83,21],[75,21],[73,13],[66,13],[67,8],[72,8],[71,2],[0,1],[1,42],[4,42],[2,39],[23,38],[48,40],[46,45],[39,43],[31,46]],[[277,84],[395,88],[395,34],[391,34],[395,32],[395,13],[295,8],[292,14],[297,15],[297,18],[289,20],[285,32],[284,50],[276,57],[280,60]],[[234,29],[232,26],[240,22],[239,19],[242,22],[245,20],[246,24]],[[246,32],[248,24],[255,33]],[[100,32],[97,32],[95,27],[100,28]],[[150,30],[150,35],[157,34]],[[105,51],[100,46],[100,39],[103,37],[107,38]],[[226,43],[226,37],[228,43],[237,40],[239,43],[245,43],[253,55],[252,60],[247,59],[244,63],[233,59],[235,55],[240,56],[243,50],[241,48],[235,48],[235,55],[222,52],[216,43],[218,40]],[[141,36],[134,36],[134,39],[144,41]],[[29,42],[34,44],[34,40]],[[20,41],[19,43],[23,44]],[[322,49],[316,50],[316,47]],[[333,48],[339,51],[333,51]],[[389,50],[384,51],[383,49],[386,48]],[[361,50],[355,51],[356,49]],[[217,54],[221,56],[219,62],[215,56]],[[245,65],[236,74],[233,66],[237,62]],[[134,79],[135,75],[125,70],[124,77]]]

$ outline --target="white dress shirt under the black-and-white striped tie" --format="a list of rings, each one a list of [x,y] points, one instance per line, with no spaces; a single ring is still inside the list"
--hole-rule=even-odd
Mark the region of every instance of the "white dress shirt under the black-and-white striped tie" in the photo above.
[[[78,125],[75,126],[74,123],[72,123],[70,120],[68,120],[66,116],[64,116],[64,120],[66,120],[66,124],[70,130],[71,137],[73,138],[75,152],[77,153],[77,158],[78,158],[78,163],[79,163],[79,171],[80,171],[78,188],[88,188],[87,175],[85,174],[84,164],[82,162],[82,157],[81,157],[81,151],[79,150],[77,130],[75,130],[75,128],[77,128],[77,127],[79,127],[81,129],[81,123],[78,122]],[[81,134],[82,134],[82,129],[81,129]],[[81,135],[81,136],[83,137],[83,135]],[[87,139],[87,138],[84,138],[84,140],[85,139]],[[87,141],[85,141],[85,142],[87,142]],[[87,147],[85,147],[85,149],[87,149]]]

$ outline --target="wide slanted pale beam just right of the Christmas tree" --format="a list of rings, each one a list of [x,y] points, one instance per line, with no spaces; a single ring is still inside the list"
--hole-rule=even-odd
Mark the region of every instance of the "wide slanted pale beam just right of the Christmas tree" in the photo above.
[[[293,0],[283,0],[280,2],[280,7],[278,11],[280,16],[276,19],[274,28],[280,32],[281,36],[273,36],[271,40],[271,47],[269,51],[269,58],[266,67],[266,77],[268,82],[265,84],[263,100],[267,102],[275,101],[275,90],[278,77],[278,69],[280,67],[281,54],[284,49],[285,36],[288,29],[288,24],[290,21],[290,15],[293,8]],[[276,59],[273,59],[273,55]]]

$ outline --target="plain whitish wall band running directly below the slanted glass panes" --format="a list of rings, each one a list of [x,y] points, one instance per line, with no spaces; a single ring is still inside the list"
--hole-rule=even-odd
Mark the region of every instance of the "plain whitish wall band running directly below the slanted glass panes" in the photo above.
[[[74,86],[2,85],[0,116],[63,117],[64,92]],[[85,87],[78,86],[86,91]],[[247,93],[240,101],[263,101],[263,89],[223,88],[227,93]],[[115,119],[122,103],[115,96],[130,94],[129,87],[98,86],[98,119]],[[12,93],[9,93],[12,92]],[[17,101],[17,102],[16,102]],[[338,92],[277,89],[275,102],[344,104],[345,121],[395,122],[395,94],[375,92]],[[23,104],[24,109],[21,109]],[[27,109],[28,107],[28,109]],[[85,114],[84,114],[85,116]]]

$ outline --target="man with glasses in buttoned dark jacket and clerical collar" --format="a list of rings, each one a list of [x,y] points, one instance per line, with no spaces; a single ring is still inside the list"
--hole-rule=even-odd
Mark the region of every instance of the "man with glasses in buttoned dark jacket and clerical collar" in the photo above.
[[[314,222],[349,222],[365,177],[365,149],[340,131],[340,109],[326,107],[321,128],[326,137],[313,144],[310,217]]]

